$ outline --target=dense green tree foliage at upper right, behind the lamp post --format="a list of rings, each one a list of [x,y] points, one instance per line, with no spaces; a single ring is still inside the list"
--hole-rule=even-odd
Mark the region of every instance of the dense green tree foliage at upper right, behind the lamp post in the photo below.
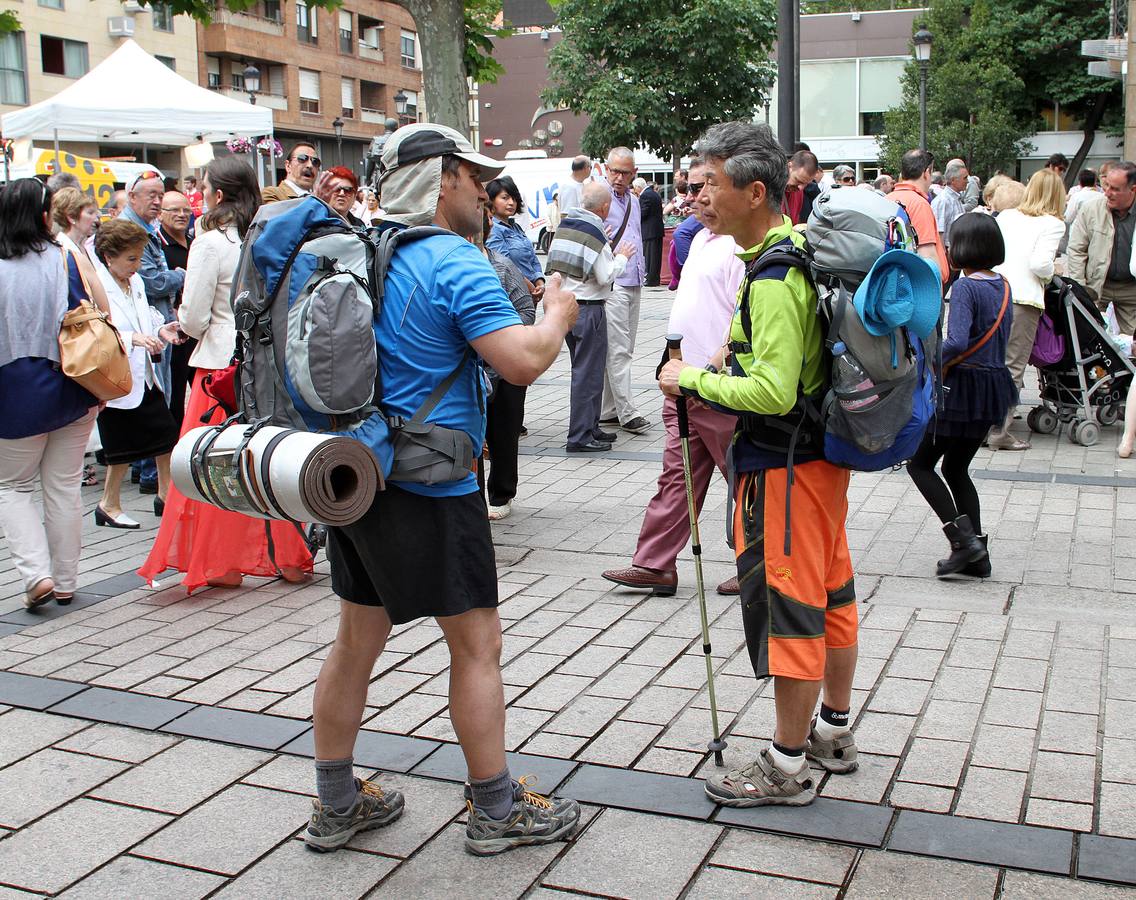
[[[1088,75],[1081,40],[1108,34],[1103,3],[1066,0],[930,0],[919,25],[934,34],[927,88],[927,149],[962,157],[979,175],[1012,170],[1031,149],[1041,109],[1056,102],[1076,119],[1120,107],[1117,82]],[[1100,100],[1099,100],[1100,99]],[[919,66],[903,76],[903,101],[885,116],[880,166],[896,172],[919,145]]]

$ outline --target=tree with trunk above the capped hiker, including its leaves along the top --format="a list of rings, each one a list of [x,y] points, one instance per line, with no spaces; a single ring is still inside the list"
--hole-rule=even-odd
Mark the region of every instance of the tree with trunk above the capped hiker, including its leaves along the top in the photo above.
[[[140,0],[143,5],[150,0]],[[335,9],[342,0],[308,0],[309,6]],[[392,0],[418,27],[423,48],[423,85],[431,118],[469,134],[469,91],[466,78],[495,82],[504,70],[493,59],[493,38],[510,34],[494,24],[501,0]],[[218,7],[236,13],[257,0],[167,0],[176,15],[208,24]],[[16,10],[0,11],[0,34],[19,31]]]

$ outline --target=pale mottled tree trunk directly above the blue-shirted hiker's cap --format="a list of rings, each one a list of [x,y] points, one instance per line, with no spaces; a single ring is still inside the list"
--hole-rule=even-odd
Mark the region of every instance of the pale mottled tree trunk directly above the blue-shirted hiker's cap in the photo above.
[[[469,136],[466,22],[462,0],[396,0],[414,16],[423,48],[423,86],[431,122]]]

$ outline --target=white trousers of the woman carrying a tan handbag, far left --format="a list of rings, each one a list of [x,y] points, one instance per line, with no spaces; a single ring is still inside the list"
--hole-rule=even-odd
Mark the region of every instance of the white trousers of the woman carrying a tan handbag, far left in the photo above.
[[[60,593],[74,593],[82,551],[83,452],[98,409],[47,434],[0,440],[0,527],[12,562],[31,590],[51,578]],[[43,485],[43,509],[33,500]]]

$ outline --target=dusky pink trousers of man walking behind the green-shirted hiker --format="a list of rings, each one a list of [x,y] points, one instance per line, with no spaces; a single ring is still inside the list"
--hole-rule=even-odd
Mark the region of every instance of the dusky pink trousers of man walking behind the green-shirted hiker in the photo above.
[[[678,442],[678,410],[673,398],[662,406],[667,443],[662,450],[662,474],[654,497],[648,503],[632,562],[643,568],[671,572],[679,552],[691,540],[690,512],[686,509],[686,483],[683,477],[683,449]],[[726,451],[737,425],[735,416],[690,406],[691,483],[699,512],[710,486],[715,467],[725,477]]]

